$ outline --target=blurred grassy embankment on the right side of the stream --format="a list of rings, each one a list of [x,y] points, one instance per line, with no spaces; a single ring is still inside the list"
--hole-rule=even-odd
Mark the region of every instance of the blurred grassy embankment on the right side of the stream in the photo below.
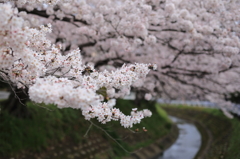
[[[163,106],[172,115],[194,122],[203,135],[201,151],[196,159],[240,159],[240,120],[229,119],[220,110]]]

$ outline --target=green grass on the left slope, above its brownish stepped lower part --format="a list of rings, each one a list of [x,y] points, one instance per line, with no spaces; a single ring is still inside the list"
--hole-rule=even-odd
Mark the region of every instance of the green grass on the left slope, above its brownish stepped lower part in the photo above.
[[[83,136],[90,124],[84,120],[81,111],[71,108],[58,109],[53,105],[38,107],[31,102],[27,104],[27,107],[32,114],[30,119],[15,118],[3,111],[0,113],[0,156],[16,156],[22,152],[46,152],[50,146],[67,142],[69,138],[74,143],[88,142],[88,139]],[[120,107],[123,112],[130,112],[136,106],[133,101],[119,100],[117,107]],[[150,108],[153,111],[151,118],[144,119],[141,124],[131,129],[138,128],[138,133],[120,127],[118,122],[100,124],[108,135],[120,139],[115,141],[118,141],[126,151],[133,151],[154,142],[155,139],[166,135],[171,128],[172,123],[167,119],[164,111],[157,108],[157,113],[154,103],[143,101],[138,107],[140,109]],[[95,120],[93,122],[97,123]],[[142,127],[146,127],[148,132],[143,132]],[[109,155],[116,157],[129,154],[104,131],[93,127],[89,134],[95,133],[105,137],[105,141],[111,145]]]

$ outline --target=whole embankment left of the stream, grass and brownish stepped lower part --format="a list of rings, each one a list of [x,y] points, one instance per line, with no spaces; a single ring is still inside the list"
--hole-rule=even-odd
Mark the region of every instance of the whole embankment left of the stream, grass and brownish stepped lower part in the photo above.
[[[164,111],[156,107],[155,103],[146,101],[141,102],[138,107],[149,108],[153,111],[153,116],[144,119],[141,124],[135,125],[131,130],[120,127],[119,122],[102,125],[92,120],[101,129],[92,126],[87,135],[90,123],[84,120],[79,110],[58,109],[53,105],[42,104],[39,107],[31,102],[27,107],[32,114],[31,118],[27,119],[15,118],[1,111],[1,159],[5,157],[94,158],[99,154],[120,158],[153,143],[156,139],[168,134],[172,128],[172,123]],[[133,101],[119,100],[117,107],[129,113],[137,106]],[[148,131],[144,132],[142,127]],[[139,131],[134,133],[136,129]]]

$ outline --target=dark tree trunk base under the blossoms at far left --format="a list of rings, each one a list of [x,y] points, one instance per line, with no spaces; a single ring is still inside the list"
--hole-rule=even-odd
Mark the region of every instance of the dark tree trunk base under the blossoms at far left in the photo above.
[[[18,118],[29,118],[27,101],[29,101],[28,90],[15,88],[14,91],[11,91],[8,99],[3,102],[3,110]]]

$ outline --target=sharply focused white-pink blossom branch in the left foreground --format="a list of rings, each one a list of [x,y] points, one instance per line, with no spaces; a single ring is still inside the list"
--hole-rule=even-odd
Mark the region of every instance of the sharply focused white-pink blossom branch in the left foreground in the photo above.
[[[32,101],[81,109],[86,120],[97,118],[103,124],[120,120],[124,127],[151,116],[148,110],[125,115],[114,108],[115,98],[127,95],[135,81],[144,80],[151,64],[136,63],[99,72],[83,64],[79,49],[63,55],[61,45],[46,38],[52,31],[50,24],[26,26],[10,4],[0,4],[0,14],[1,77],[18,88],[27,87]],[[107,94],[98,93],[101,89],[106,89]],[[110,100],[103,102],[104,98]]]

